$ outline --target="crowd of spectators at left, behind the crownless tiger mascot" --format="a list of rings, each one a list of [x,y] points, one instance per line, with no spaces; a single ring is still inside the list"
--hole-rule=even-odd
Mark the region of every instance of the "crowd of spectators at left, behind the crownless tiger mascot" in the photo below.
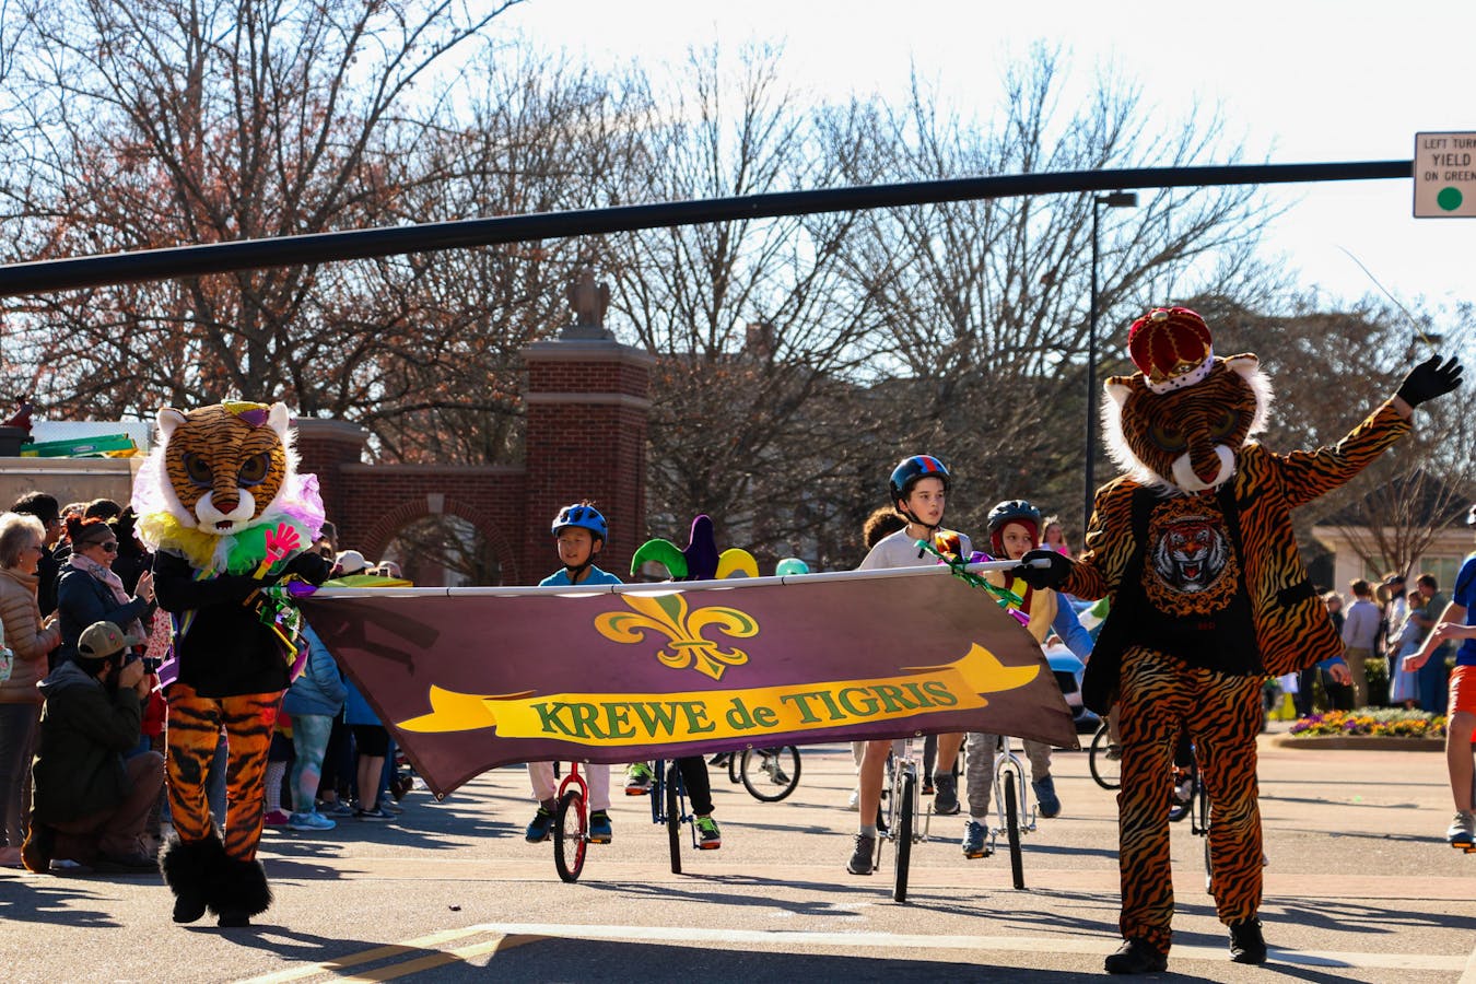
[[[134,521],[109,499],[61,505],[46,493],[0,513],[0,867],[156,867],[170,820],[156,670],[171,620]],[[313,549],[357,586],[400,577],[391,561],[339,550],[332,524]],[[289,834],[391,820],[413,779],[332,654],[310,628],[304,642],[267,772],[266,825]],[[224,760],[223,733],[210,782],[217,823]]]

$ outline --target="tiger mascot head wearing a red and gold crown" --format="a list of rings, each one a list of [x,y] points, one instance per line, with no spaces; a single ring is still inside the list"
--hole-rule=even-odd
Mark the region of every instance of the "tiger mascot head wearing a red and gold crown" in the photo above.
[[[1235,451],[1265,429],[1271,384],[1255,356],[1215,356],[1187,307],[1153,308],[1128,332],[1138,372],[1107,381],[1107,448],[1132,479],[1166,493],[1230,481]]]

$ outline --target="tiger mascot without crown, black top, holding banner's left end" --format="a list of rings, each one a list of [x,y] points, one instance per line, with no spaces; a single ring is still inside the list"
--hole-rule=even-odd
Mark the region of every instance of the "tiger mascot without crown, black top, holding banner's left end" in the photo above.
[[[158,415],[158,446],[134,482],[137,533],[155,552],[154,584],[173,618],[161,667],[168,702],[174,834],[159,859],[174,921],[210,909],[244,926],[272,904],[261,839],[263,776],[277,705],[297,656],[282,609],[260,589],[286,577],[320,584],[331,568],[308,550],[323,522],[314,475],[297,474],[280,403],[224,403]],[[205,776],[226,729],[224,834],[211,822]]]

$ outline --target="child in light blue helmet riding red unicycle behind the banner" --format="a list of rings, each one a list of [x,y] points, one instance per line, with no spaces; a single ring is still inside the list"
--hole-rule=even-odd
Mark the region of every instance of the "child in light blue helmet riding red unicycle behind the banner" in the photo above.
[[[599,510],[587,502],[564,506],[554,516],[554,536],[558,538],[558,556],[564,567],[539,581],[540,587],[571,587],[574,584],[620,584],[620,578],[595,567],[595,556],[604,549],[610,528]],[[539,810],[528,823],[530,844],[537,844],[549,835],[554,825],[555,800],[554,763],[530,761],[528,780],[533,783],[533,798]],[[584,770],[589,785],[589,841],[610,844],[610,766],[592,763]]]

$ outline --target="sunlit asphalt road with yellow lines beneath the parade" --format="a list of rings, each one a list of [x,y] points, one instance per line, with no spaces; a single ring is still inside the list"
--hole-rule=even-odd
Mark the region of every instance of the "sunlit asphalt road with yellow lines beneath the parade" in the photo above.
[[[1085,736],[1083,736],[1085,741]],[[0,869],[10,981],[1072,981],[1117,943],[1116,803],[1085,752],[1055,755],[1063,816],[1008,857],[965,860],[959,817],[914,850],[909,898],[892,853],[846,872],[856,816],[849,748],[804,749],[796,794],[757,803],[713,770],[719,851],[667,865],[648,800],[618,795],[614,842],[564,884],[552,847],[523,841],[521,769],[443,803],[410,792],[390,825],[270,831],[276,904],[249,929],[170,922],[156,876]],[[1476,856],[1445,847],[1444,758],[1432,752],[1261,749],[1262,918],[1271,963],[1228,962],[1200,839],[1175,825],[1175,946],[1163,980],[1476,981]]]

